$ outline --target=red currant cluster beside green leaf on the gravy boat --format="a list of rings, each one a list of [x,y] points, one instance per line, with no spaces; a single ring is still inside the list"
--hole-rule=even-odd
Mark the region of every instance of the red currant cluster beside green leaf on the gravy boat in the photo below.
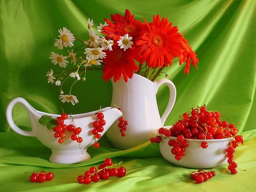
[[[72,118],[72,116],[71,116]],[[56,123],[57,126],[53,128],[53,131],[55,131],[54,136],[58,139],[58,142],[61,144],[64,142],[64,139],[66,137],[66,132],[73,132],[71,135],[71,139],[73,141],[77,141],[77,143],[82,143],[82,137],[79,136],[79,133],[81,133],[82,128],[81,127],[76,127],[73,124],[69,124],[68,126],[64,124],[64,120],[68,119],[68,114],[62,113],[61,116],[56,118]]]

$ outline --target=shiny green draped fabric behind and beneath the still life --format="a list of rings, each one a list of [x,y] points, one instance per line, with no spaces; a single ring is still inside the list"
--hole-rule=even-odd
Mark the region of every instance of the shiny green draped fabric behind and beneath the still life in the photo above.
[[[79,104],[61,103],[59,89],[47,84],[46,72],[52,68],[49,55],[57,30],[67,27],[71,32],[88,38],[88,18],[96,25],[110,14],[124,14],[129,9],[135,19],[152,21],[159,14],[183,31],[199,59],[199,69],[191,67],[184,74],[184,65],[173,64],[164,72],[177,89],[175,106],[166,125],[175,123],[179,115],[191,107],[206,104],[220,111],[229,122],[236,123],[245,145],[238,147],[241,169],[236,176],[225,166],[216,168],[212,181],[195,185],[188,170],[177,168],[160,156],[158,145],[144,143],[129,150],[115,149],[106,137],[101,148],[89,148],[92,158],[74,165],[48,162],[51,151],[34,137],[20,136],[6,122],[5,111],[15,97],[23,97],[36,109],[59,113],[59,107],[74,113],[97,110],[110,105],[111,82],[102,79],[102,72],[87,73],[86,81],[74,87]],[[0,1],[0,189],[3,191],[166,191],[218,190],[253,191],[255,182],[256,146],[256,1],[254,0],[1,0]],[[162,114],[168,101],[168,90],[161,87],[157,95]],[[14,120],[30,129],[23,107],[14,108]],[[127,175],[108,181],[79,185],[76,177],[106,157],[123,161]],[[53,171],[51,182],[30,183],[31,172]],[[243,184],[243,185],[242,185]],[[247,187],[247,188],[246,188]]]

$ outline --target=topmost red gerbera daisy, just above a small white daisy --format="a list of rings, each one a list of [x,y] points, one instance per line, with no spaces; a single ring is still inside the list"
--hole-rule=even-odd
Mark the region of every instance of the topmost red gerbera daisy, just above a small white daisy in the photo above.
[[[134,15],[131,15],[129,10],[125,10],[125,16],[112,14],[111,18],[114,23],[109,19],[104,19],[109,24],[102,31],[103,34],[107,35],[106,39],[113,38],[114,41],[118,41],[120,36],[129,34],[135,41],[138,39],[140,32],[143,31],[144,23],[134,19]]]

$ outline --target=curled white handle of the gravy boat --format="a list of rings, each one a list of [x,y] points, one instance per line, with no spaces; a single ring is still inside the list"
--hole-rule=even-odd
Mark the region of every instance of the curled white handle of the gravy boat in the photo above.
[[[20,103],[22,104],[26,110],[30,110],[31,109],[31,106],[30,104],[23,98],[21,97],[17,97],[15,99],[13,99],[9,105],[7,106],[6,108],[6,119],[7,119],[7,122],[9,123],[9,126],[17,133],[19,133],[20,135],[24,135],[24,136],[34,136],[34,132],[33,131],[25,131],[25,130],[22,130],[21,128],[19,128],[18,126],[16,126],[16,124],[14,123],[14,120],[13,120],[13,107],[17,104],[17,103]],[[28,114],[30,115],[30,114]]]

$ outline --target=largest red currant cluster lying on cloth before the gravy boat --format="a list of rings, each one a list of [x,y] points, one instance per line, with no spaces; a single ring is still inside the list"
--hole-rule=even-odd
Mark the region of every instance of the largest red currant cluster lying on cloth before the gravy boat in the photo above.
[[[126,174],[126,169],[119,164],[113,164],[111,158],[106,158],[103,164],[98,166],[92,166],[89,170],[86,170],[84,175],[77,177],[79,183],[90,184],[98,182],[100,180],[108,180],[109,177],[123,177]]]

